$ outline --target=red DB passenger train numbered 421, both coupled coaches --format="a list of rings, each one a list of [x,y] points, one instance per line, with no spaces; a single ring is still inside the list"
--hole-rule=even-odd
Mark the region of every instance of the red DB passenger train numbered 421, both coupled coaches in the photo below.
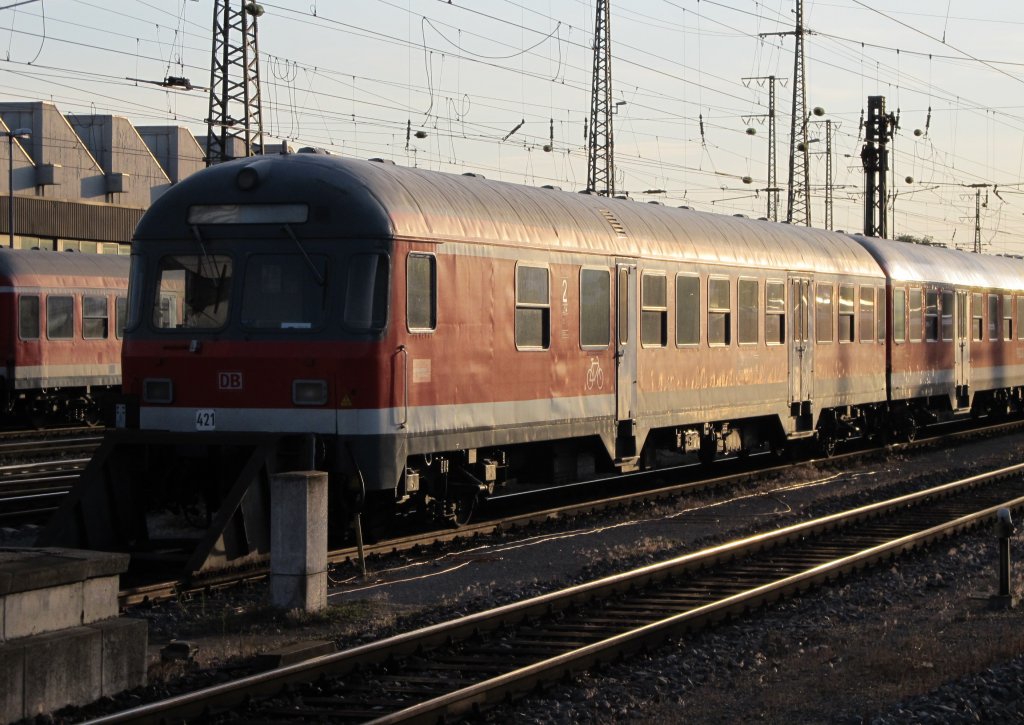
[[[178,183],[132,260],[121,425],[397,511],[1021,407],[1018,259],[298,154]]]

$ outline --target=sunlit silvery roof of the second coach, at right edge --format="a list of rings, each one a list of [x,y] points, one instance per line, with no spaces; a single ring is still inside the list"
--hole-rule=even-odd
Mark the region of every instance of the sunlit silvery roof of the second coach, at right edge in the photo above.
[[[1024,259],[855,236],[893,282],[1024,290]]]

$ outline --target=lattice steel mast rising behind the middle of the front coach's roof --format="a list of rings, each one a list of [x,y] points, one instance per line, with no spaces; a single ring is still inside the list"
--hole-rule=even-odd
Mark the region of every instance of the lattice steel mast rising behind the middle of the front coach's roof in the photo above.
[[[597,0],[590,135],[587,138],[587,190],[605,197],[615,196],[611,112],[611,10],[608,0]]]

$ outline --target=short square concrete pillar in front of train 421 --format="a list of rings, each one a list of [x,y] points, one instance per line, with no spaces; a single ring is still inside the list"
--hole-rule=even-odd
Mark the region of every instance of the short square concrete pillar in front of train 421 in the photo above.
[[[270,478],[270,603],[318,611],[327,606],[327,473]]]

